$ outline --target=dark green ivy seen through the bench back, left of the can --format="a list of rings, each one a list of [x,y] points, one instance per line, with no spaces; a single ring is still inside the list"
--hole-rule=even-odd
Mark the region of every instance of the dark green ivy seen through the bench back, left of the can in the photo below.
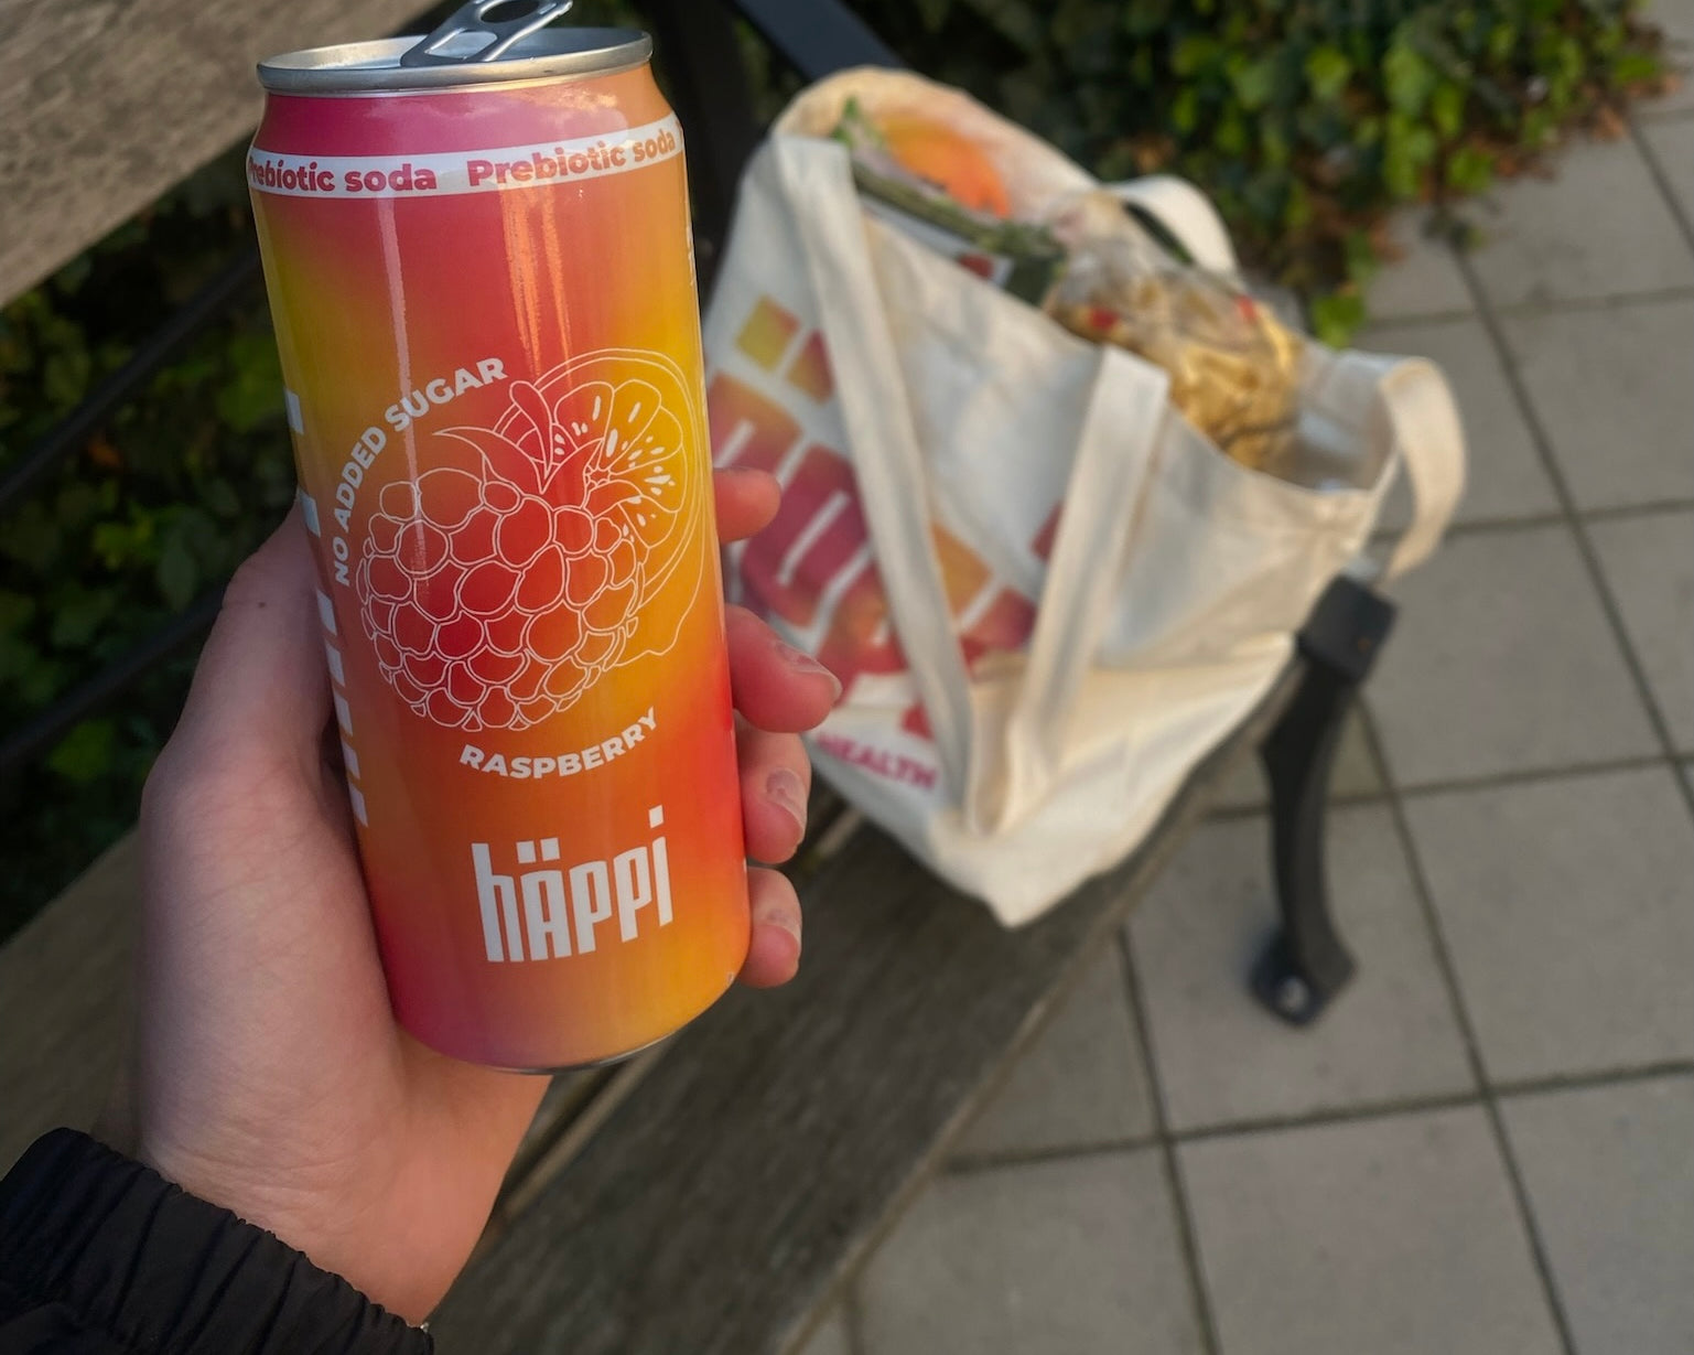
[[[241,152],[0,310],[0,473],[249,241]],[[293,466],[264,300],[181,351],[0,530],[0,730],[151,639],[286,512]],[[134,821],[191,654],[0,786],[0,935]]]

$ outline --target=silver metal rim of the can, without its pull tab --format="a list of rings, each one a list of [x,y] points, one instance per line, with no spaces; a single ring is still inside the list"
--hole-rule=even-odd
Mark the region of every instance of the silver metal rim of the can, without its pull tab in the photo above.
[[[401,66],[418,37],[381,37],[305,47],[259,63],[259,83],[276,93],[335,95],[371,90],[447,90],[540,76],[615,75],[647,63],[652,39],[635,29],[542,29],[498,61]]]

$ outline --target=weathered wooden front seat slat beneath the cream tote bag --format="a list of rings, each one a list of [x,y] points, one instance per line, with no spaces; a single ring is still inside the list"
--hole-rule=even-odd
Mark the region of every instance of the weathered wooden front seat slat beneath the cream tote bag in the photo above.
[[[486,1355],[789,1348],[1157,877],[1286,701],[1191,779],[1147,845],[1005,932],[877,832],[805,884],[806,964],[683,1031],[491,1236],[432,1330]]]

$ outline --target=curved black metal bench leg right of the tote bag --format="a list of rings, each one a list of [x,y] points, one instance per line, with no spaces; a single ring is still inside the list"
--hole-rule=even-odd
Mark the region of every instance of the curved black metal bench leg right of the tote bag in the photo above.
[[[1299,689],[1259,749],[1270,779],[1282,925],[1254,965],[1252,987],[1298,1026],[1315,1021],[1354,976],[1330,915],[1323,820],[1342,725],[1392,623],[1392,603],[1354,579],[1331,583],[1299,633]]]

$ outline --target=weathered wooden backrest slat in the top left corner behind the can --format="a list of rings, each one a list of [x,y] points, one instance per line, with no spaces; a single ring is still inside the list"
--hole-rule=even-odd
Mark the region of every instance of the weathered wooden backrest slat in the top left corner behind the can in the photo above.
[[[424,0],[0,0],[0,303],[259,120],[252,64],[393,32]]]

